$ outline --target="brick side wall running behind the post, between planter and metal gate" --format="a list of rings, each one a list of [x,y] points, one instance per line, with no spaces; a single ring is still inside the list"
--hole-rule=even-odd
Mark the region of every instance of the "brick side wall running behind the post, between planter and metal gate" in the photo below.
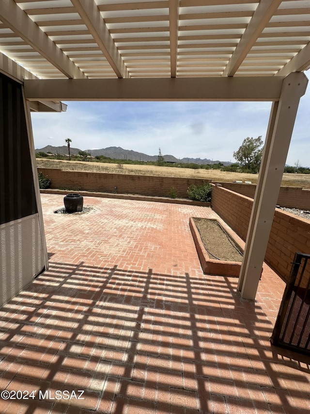
[[[213,186],[212,208],[243,240],[252,205],[249,197]],[[310,221],[276,209],[265,261],[287,282],[296,252],[310,254]]]

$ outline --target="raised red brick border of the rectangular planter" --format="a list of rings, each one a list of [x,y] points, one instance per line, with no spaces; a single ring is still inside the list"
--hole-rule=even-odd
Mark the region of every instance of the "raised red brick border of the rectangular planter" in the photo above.
[[[189,217],[189,228],[193,235],[203,273],[208,275],[239,277],[241,262],[211,259],[204,248],[201,235],[192,217]],[[235,240],[234,242],[236,243]],[[238,245],[238,243],[236,244]],[[243,250],[241,247],[240,249]]]

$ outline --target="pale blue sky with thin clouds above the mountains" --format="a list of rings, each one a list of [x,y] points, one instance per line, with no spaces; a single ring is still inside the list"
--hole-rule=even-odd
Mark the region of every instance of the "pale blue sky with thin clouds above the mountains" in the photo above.
[[[305,72],[310,78],[310,70]],[[35,149],[122,147],[148,155],[234,162],[247,137],[265,139],[271,102],[64,102],[63,113],[31,113]],[[286,164],[310,166],[310,86],[300,99]]]

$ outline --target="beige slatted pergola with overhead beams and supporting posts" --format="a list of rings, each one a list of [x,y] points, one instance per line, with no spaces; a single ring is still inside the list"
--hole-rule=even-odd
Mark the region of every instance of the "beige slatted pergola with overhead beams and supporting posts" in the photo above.
[[[1,0],[0,51],[0,71],[22,84],[44,268],[31,110],[59,112],[62,100],[272,101],[238,285],[255,298],[308,83],[309,0]]]

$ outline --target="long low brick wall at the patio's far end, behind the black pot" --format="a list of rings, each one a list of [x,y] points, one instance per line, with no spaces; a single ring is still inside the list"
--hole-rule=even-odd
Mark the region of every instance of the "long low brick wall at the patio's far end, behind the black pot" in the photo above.
[[[177,197],[185,199],[188,198],[186,192],[191,184],[200,185],[211,181],[194,178],[63,171],[58,168],[38,168],[38,171],[51,179],[51,188],[113,193],[117,187],[117,192],[122,194],[170,197],[171,188],[174,187]]]

